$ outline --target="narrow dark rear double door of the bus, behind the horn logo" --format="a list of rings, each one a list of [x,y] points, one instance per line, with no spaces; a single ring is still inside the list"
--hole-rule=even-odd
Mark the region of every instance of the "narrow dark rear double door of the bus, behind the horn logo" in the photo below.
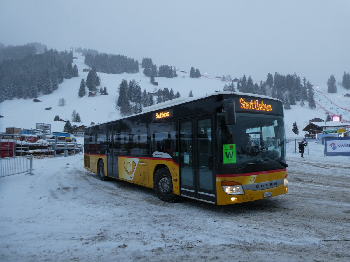
[[[118,123],[107,125],[107,176],[118,178]]]

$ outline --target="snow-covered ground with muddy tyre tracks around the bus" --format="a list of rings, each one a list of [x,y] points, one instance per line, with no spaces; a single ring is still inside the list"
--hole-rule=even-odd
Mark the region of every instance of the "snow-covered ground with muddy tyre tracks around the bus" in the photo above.
[[[0,261],[349,261],[349,159],[287,151],[287,194],[229,206],[102,182],[83,154],[34,159],[0,178]]]

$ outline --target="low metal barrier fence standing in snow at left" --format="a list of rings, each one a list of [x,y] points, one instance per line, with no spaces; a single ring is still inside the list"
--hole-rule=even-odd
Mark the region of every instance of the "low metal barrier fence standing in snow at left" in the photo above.
[[[0,177],[20,173],[33,174],[33,156],[22,155],[20,157],[0,158]]]

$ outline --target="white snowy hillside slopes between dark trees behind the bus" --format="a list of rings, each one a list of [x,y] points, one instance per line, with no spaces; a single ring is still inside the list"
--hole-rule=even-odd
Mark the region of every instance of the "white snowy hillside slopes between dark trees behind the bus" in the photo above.
[[[71,113],[76,110],[79,113],[82,123],[72,123],[76,125],[89,126],[91,122],[102,123],[117,119],[120,117],[119,111],[116,110],[116,101],[118,99],[117,89],[123,79],[128,82],[132,79],[139,82],[141,90],[146,89],[147,92],[153,92],[154,88],[167,87],[169,90],[173,89],[174,93],[180,92],[181,97],[188,97],[190,89],[194,97],[202,96],[207,93],[212,93],[215,90],[223,90],[226,82],[220,81],[215,77],[205,76],[199,79],[189,77],[189,73],[180,73],[180,71],[189,72],[189,68],[178,68],[178,77],[176,78],[155,78],[155,81],[159,83],[158,86],[153,86],[149,82],[149,78],[140,72],[137,74],[105,74],[98,73],[101,79],[101,87],[106,87],[109,95],[97,95],[96,97],[84,96],[80,98],[78,96],[78,89],[80,80],[84,78],[86,80],[87,72],[82,72],[84,68],[89,68],[84,64],[84,57],[79,53],[74,53],[77,59],[73,59],[73,65],[76,64],[79,70],[79,77],[64,79],[63,83],[59,84],[58,90],[55,90],[53,94],[41,95],[38,97],[42,102],[34,103],[32,99],[13,99],[11,101],[6,100],[0,103],[0,114],[4,118],[0,119],[0,132],[5,132],[6,127],[18,127],[18,128],[35,128],[35,123],[51,124],[52,131],[63,131],[65,122],[53,121],[54,117],[58,115],[62,119],[71,121]],[[202,72],[202,74],[205,74]],[[240,75],[232,75],[232,77],[240,78]],[[340,79],[337,79],[339,82]],[[325,119],[325,110],[328,110],[333,114],[342,114],[343,122],[349,121],[350,111],[350,99],[343,95],[349,93],[350,90],[346,90],[341,86],[337,86],[336,94],[327,93],[327,84],[315,86],[315,102],[316,109],[310,109],[307,107],[307,102],[304,107],[292,105],[292,109],[285,110],[285,123],[287,126],[287,137],[290,135],[290,128],[294,122],[297,122],[299,132],[301,135],[304,131],[301,131],[308,123],[310,119],[315,117]],[[65,99],[66,105],[64,107],[58,107],[59,99]],[[51,107],[51,110],[45,110],[45,108]]]

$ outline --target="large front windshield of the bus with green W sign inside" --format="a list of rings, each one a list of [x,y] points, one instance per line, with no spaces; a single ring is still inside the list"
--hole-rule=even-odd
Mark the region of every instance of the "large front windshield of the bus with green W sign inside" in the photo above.
[[[236,124],[226,125],[225,114],[218,113],[217,128],[218,173],[287,166],[282,116],[237,112]]]

